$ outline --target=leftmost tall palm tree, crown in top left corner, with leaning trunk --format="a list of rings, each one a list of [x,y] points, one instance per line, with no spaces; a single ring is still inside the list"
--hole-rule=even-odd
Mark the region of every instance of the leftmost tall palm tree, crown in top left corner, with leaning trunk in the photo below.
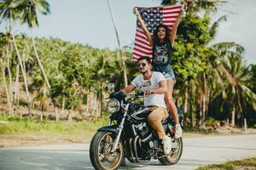
[[[20,68],[22,71],[22,75],[24,78],[24,83],[25,83],[25,88],[26,88],[26,98],[27,98],[27,104],[28,104],[28,113],[30,115],[30,95],[28,92],[28,86],[27,86],[27,80],[26,80],[26,73],[24,71],[24,66],[22,65],[22,60],[20,58],[20,53],[19,50],[17,48],[17,44],[15,42],[15,36],[13,34],[13,29],[14,29],[14,21],[18,18],[19,13],[18,10],[16,8],[16,1],[15,0],[1,0],[0,1],[0,16],[1,16],[1,20],[0,23],[3,20],[9,20],[9,32],[10,35],[13,39],[14,45],[15,45],[15,50],[19,59],[19,63],[20,63]]]

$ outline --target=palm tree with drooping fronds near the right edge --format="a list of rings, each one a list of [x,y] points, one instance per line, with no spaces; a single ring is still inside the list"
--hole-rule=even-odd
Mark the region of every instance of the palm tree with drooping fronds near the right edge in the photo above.
[[[232,108],[231,125],[235,126],[236,113],[237,116],[241,116],[241,124],[243,124],[244,106],[255,106],[256,102],[256,94],[247,86],[253,75],[241,60],[243,48],[234,42],[218,43],[213,47],[221,56],[218,71],[228,80],[228,85],[224,88],[227,94],[224,100]]]

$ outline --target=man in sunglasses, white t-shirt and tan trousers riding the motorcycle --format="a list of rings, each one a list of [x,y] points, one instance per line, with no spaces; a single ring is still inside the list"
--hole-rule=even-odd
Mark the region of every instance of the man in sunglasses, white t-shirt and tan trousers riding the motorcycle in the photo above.
[[[133,79],[131,84],[121,91],[129,94],[135,88],[140,88],[144,92],[144,105],[148,106],[151,111],[148,115],[148,122],[162,140],[165,154],[168,154],[172,150],[172,141],[166,136],[161,124],[161,121],[168,117],[165,102],[166,79],[162,73],[151,71],[152,65],[148,56],[141,57],[137,63],[142,75]]]

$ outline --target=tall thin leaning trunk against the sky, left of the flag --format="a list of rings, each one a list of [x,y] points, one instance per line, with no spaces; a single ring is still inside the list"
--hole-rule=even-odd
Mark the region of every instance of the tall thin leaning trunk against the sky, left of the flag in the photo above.
[[[109,8],[109,12],[111,14],[111,19],[112,19],[112,22],[113,22],[113,28],[114,28],[114,31],[115,31],[115,34],[116,34],[116,37],[117,37],[117,41],[118,41],[118,44],[119,44],[119,54],[120,54],[120,57],[121,57],[121,60],[122,60],[122,65],[123,65],[125,87],[127,87],[128,86],[128,81],[127,81],[127,73],[126,73],[126,66],[125,66],[125,58],[123,56],[122,45],[121,45],[121,42],[119,40],[119,34],[118,34],[118,31],[117,31],[116,26],[115,26],[115,21],[114,21],[114,18],[113,18],[113,12],[112,12],[112,8],[111,8],[109,0],[108,0],[108,8]]]

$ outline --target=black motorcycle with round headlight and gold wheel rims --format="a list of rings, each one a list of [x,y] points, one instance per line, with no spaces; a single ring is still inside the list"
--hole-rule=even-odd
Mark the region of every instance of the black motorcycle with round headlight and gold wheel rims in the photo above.
[[[113,88],[113,85],[112,85]],[[163,165],[173,165],[183,153],[183,139],[175,139],[175,123],[171,114],[162,122],[166,135],[172,139],[172,150],[166,154],[157,133],[147,122],[148,108],[137,99],[140,94],[109,95],[107,111],[109,125],[100,127],[90,142],[90,161],[96,170],[118,169],[125,158],[131,162],[158,159]],[[183,115],[178,110],[179,122],[183,127]]]

